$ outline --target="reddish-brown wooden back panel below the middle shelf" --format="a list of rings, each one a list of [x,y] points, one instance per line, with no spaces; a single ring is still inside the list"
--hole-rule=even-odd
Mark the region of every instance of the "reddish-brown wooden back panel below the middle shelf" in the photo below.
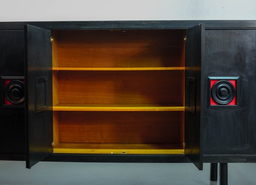
[[[60,111],[59,142],[180,144],[181,114]]]

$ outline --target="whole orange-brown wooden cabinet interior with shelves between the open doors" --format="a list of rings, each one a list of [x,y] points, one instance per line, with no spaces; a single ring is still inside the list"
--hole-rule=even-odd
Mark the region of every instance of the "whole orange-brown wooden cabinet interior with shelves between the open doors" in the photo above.
[[[185,30],[52,37],[54,153],[184,154]]]

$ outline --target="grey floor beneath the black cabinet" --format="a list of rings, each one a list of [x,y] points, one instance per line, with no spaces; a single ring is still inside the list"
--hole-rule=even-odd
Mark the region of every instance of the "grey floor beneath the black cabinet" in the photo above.
[[[256,164],[229,164],[230,185],[255,185]],[[0,161],[0,185],[217,185],[190,163],[73,163]]]

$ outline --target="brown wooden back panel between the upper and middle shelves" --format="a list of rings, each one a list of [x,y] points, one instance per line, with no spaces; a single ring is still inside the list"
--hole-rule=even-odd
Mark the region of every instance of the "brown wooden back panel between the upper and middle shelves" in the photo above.
[[[184,104],[183,71],[58,71],[60,104]]]

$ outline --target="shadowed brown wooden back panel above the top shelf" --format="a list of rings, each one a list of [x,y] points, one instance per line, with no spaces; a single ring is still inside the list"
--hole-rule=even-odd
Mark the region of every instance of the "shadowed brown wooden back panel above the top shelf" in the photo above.
[[[53,31],[53,67],[184,66],[184,30]]]

